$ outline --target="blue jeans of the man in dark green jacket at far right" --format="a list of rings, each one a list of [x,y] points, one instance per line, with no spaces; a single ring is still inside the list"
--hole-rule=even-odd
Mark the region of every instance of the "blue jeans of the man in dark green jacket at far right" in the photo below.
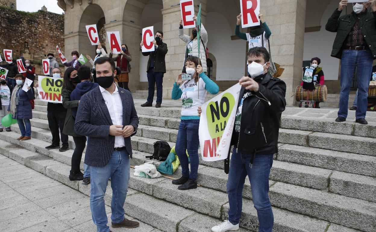
[[[355,65],[358,68],[358,99],[355,117],[365,118],[367,113],[368,86],[372,74],[373,56],[369,50],[343,50],[341,59],[341,92],[340,109],[338,117],[347,117],[347,106],[349,104],[350,85],[353,79]]]

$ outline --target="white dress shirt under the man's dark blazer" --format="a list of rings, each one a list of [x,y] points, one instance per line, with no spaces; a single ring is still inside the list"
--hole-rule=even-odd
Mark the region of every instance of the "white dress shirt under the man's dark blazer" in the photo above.
[[[115,85],[115,83],[114,83]],[[123,104],[121,102],[120,93],[118,88],[110,94],[105,88],[99,86],[100,92],[102,93],[103,99],[110,113],[112,124],[123,125]],[[115,136],[115,146],[114,147],[125,147],[124,137]]]

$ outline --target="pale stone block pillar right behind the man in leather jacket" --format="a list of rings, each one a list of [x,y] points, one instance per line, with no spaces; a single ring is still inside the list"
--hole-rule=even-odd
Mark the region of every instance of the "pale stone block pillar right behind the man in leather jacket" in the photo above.
[[[273,62],[285,68],[280,79],[286,82],[287,105],[294,105],[295,88],[302,81],[306,0],[261,1],[260,11],[271,30]]]

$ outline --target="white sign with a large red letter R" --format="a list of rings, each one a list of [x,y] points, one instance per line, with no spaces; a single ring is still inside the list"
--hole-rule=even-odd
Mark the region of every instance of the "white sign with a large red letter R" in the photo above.
[[[240,10],[243,28],[260,25],[260,0],[240,0]]]

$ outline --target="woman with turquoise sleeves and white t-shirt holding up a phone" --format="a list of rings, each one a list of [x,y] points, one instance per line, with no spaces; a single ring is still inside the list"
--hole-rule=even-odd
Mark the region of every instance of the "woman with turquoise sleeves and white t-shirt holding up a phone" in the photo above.
[[[186,73],[192,74],[191,80],[182,80],[182,73],[176,79],[171,98],[182,98],[182,111],[179,131],[177,132],[175,152],[182,165],[182,177],[173,180],[174,185],[180,185],[179,190],[197,188],[197,170],[199,168],[199,124],[200,116],[197,108],[204,103],[206,93],[217,94],[218,85],[203,72],[201,61],[197,56],[188,56],[185,61]],[[201,77],[201,78],[200,78]],[[191,173],[188,167],[188,155],[191,162]]]

